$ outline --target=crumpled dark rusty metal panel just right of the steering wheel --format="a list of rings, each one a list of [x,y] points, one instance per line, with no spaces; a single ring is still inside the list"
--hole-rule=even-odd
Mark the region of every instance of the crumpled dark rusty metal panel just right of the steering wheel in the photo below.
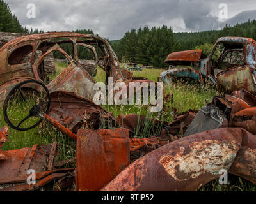
[[[50,94],[49,116],[74,133],[81,126],[98,129],[105,122],[115,123],[115,117],[99,105],[74,93],[57,91]]]

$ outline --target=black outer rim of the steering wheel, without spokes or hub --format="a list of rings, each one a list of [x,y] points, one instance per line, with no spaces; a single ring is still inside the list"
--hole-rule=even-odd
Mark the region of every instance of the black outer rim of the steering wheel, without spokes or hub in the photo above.
[[[4,100],[3,115],[4,115],[4,120],[8,124],[8,126],[10,126],[13,129],[19,130],[19,131],[27,131],[29,129],[33,129],[33,128],[38,126],[43,121],[43,119],[41,118],[40,120],[38,120],[38,122],[36,122],[36,124],[34,124],[33,126],[30,126],[29,128],[19,128],[19,127],[14,126],[12,124],[12,122],[10,121],[10,119],[8,117],[8,114],[7,114],[8,101],[12,97],[13,93],[17,89],[19,89],[22,85],[24,85],[24,84],[31,84],[31,83],[39,84],[39,85],[41,85],[44,88],[44,90],[45,90],[45,92],[47,94],[47,107],[45,109],[45,113],[46,114],[49,113],[49,110],[50,110],[50,105],[51,105],[50,93],[49,93],[49,90],[47,89],[47,87],[42,82],[39,82],[37,80],[26,80],[26,81],[20,82],[19,84],[15,85],[15,87],[13,87],[13,89],[8,93],[8,95],[6,96],[6,99]]]

